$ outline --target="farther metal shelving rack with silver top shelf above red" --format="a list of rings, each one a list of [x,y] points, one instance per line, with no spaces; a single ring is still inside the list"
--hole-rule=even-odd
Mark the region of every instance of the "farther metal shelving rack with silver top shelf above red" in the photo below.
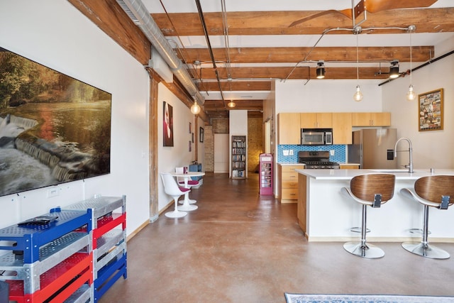
[[[94,197],[66,207],[92,213],[93,302],[126,272],[126,196]],[[119,212],[114,212],[118,211]]]

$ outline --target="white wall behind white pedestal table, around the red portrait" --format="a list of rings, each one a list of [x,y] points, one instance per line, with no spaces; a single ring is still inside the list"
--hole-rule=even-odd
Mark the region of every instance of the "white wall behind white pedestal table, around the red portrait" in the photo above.
[[[195,116],[191,113],[191,110],[179,101],[179,99],[170,92],[164,84],[159,84],[158,94],[157,94],[158,104],[157,104],[157,113],[158,113],[158,172],[175,172],[175,167],[187,166],[191,164],[195,159],[195,144],[199,144],[198,147],[198,162],[202,163],[202,170],[204,170],[204,153],[203,144],[196,142],[199,139],[195,140],[192,143],[192,133],[197,132],[199,134],[199,126],[203,124],[201,119],[197,121],[199,126],[195,129]],[[162,106],[163,102],[166,101],[173,107],[173,147],[163,146],[162,136]],[[189,123],[191,123],[191,133],[189,133]],[[194,133],[195,136],[195,133]],[[189,151],[189,141],[191,141],[191,151]],[[162,186],[162,180],[158,181],[158,211],[164,209],[168,204],[173,200],[172,197],[167,196],[164,192],[164,187]],[[196,190],[196,189],[194,189]]]

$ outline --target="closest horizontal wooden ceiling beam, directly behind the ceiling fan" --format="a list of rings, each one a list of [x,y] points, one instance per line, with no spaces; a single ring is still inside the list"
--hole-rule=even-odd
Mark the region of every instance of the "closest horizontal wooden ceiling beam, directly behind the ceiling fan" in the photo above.
[[[347,9],[347,8],[346,8]],[[353,22],[342,13],[329,13],[319,18],[289,27],[293,21],[321,11],[236,11],[227,13],[229,35],[321,35],[328,28],[352,28]],[[417,33],[454,31],[454,8],[393,9],[367,13],[363,28],[416,25]],[[162,33],[170,36],[204,35],[198,13],[153,13],[153,19]],[[219,12],[204,13],[209,35],[223,35],[223,19]],[[174,28],[175,26],[175,28]],[[402,33],[396,30],[369,33]],[[331,32],[330,34],[351,34]]]

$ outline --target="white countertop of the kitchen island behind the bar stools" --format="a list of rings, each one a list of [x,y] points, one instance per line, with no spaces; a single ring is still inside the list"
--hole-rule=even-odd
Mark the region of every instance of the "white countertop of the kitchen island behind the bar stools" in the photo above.
[[[389,173],[396,175],[396,180],[416,180],[420,177],[430,175],[454,175],[453,169],[436,168],[432,173],[429,168],[415,168],[413,173],[409,173],[407,169],[391,169],[391,170],[296,170],[300,174],[316,180],[351,180],[353,177],[362,174],[373,174],[378,172]]]

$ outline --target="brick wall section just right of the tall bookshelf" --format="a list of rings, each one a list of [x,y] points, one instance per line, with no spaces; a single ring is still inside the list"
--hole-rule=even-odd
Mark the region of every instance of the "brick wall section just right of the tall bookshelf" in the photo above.
[[[258,156],[263,153],[262,117],[248,117],[248,172],[258,171]]]

